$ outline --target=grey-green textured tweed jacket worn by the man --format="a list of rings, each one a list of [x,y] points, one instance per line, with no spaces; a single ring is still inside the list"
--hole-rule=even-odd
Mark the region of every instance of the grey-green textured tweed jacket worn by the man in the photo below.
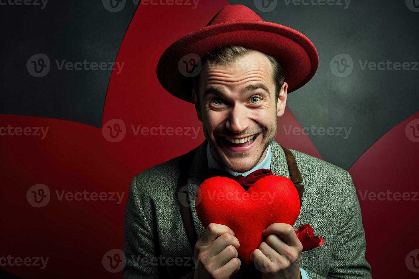
[[[204,227],[194,207],[199,185],[208,170],[207,141],[198,146],[189,170],[189,203],[200,238]],[[271,170],[290,178],[284,151],[271,142]],[[307,154],[291,150],[303,178],[304,196],[294,229],[310,224],[322,246],[301,253],[300,266],[310,279],[371,278],[365,260],[365,233],[352,178],[347,171]],[[189,278],[193,248],[182,222],[176,192],[184,155],[151,167],[132,179],[124,225],[124,278]],[[263,214],[263,212],[261,212]],[[260,278],[260,271],[243,261],[232,278]]]

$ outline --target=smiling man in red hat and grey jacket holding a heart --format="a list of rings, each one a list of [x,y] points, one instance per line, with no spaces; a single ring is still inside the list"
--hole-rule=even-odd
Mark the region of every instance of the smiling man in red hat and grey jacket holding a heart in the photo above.
[[[183,64],[191,67],[183,70]],[[165,51],[158,79],[168,92],[194,103],[206,140],[132,180],[125,278],[371,277],[349,173],[274,141],[287,93],[308,82],[317,66],[317,51],[308,38],[261,20],[242,5],[226,6],[207,27]],[[294,227],[269,225],[265,241],[251,253],[253,265],[238,258],[240,243],[231,228],[215,223],[204,228],[199,222],[194,197],[209,169],[241,180],[271,169],[296,187],[304,184]],[[324,244],[302,251],[295,230],[306,223]]]

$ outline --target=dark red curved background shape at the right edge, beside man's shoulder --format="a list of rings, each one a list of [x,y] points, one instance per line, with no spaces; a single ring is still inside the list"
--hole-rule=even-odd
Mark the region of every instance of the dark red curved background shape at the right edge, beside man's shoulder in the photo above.
[[[413,259],[406,257],[419,248],[419,143],[409,139],[406,126],[418,118],[415,113],[385,133],[349,169],[360,201],[373,278],[417,278],[408,268]],[[397,201],[394,195],[390,200],[387,191],[407,192],[411,198],[416,195],[416,200]],[[386,197],[378,200],[382,192]]]

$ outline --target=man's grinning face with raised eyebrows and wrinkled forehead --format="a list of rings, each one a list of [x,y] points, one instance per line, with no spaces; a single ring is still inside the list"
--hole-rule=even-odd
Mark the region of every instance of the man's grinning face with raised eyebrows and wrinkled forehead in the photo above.
[[[205,62],[197,113],[215,159],[240,173],[259,164],[284,113],[286,91],[284,82],[276,102],[271,64],[260,51],[231,64]]]

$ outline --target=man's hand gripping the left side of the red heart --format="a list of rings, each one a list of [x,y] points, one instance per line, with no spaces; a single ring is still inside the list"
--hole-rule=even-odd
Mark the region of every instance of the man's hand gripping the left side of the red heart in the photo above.
[[[208,225],[195,244],[194,279],[227,279],[240,269],[241,261],[237,258],[240,243],[234,235],[225,225]]]

